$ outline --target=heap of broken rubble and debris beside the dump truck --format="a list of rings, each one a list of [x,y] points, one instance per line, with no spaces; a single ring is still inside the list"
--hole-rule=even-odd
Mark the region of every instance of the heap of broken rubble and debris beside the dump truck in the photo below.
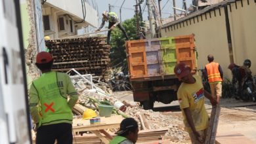
[[[71,79],[73,79],[72,77],[77,76],[71,76]],[[98,82],[96,84],[92,82],[89,84],[90,82],[85,81],[84,79],[73,79],[72,81],[74,82],[77,92],[79,92],[79,104],[86,107],[85,109],[94,109],[98,114],[97,105],[99,104],[99,101],[107,100],[110,101],[112,105],[114,105],[116,101],[120,101],[108,92],[108,86],[104,82]],[[91,89],[92,87],[93,89]],[[140,107],[139,103],[134,101],[125,100],[121,102],[125,105],[126,111],[114,109],[115,112],[117,112],[116,115],[135,118],[139,124],[140,130],[165,129],[168,131],[163,138],[165,137],[168,139],[168,137],[171,137],[170,139],[173,142],[188,141],[189,135],[184,131],[182,119],[177,117],[177,115],[173,115],[174,113],[168,113],[166,115],[152,110],[144,110]]]

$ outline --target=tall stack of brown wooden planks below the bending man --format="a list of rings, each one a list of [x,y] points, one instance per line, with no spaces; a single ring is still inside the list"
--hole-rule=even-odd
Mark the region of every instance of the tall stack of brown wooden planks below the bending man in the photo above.
[[[66,72],[74,68],[81,74],[101,75],[110,62],[110,45],[106,37],[83,37],[45,41],[53,56],[53,70]]]

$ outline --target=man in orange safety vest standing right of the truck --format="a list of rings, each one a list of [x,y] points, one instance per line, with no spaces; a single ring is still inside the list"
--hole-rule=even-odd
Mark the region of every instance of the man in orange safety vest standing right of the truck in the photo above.
[[[209,54],[207,60],[209,63],[205,65],[205,71],[207,71],[205,77],[207,77],[209,81],[211,96],[213,96],[213,98],[217,100],[217,103],[219,103],[222,92],[223,69],[221,69],[219,63],[213,62],[213,55]]]

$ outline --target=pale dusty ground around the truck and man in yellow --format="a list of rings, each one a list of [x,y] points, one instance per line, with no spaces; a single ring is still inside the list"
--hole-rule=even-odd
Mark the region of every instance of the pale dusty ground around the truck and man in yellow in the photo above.
[[[130,91],[115,92],[114,96],[133,101],[133,93]],[[220,105],[221,115],[217,129],[217,141],[220,143],[256,143],[256,103],[226,98],[221,99]],[[210,115],[209,101],[205,101],[205,107]],[[182,117],[177,101],[169,105],[155,103],[154,111],[163,111],[161,113],[165,115],[173,115],[170,111],[175,111],[177,117]]]

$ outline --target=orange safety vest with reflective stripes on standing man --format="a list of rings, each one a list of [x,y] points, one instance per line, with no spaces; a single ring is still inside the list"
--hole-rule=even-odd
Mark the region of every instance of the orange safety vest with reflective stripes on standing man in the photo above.
[[[211,62],[205,65],[209,82],[222,82],[221,73],[219,73],[219,63]]]

